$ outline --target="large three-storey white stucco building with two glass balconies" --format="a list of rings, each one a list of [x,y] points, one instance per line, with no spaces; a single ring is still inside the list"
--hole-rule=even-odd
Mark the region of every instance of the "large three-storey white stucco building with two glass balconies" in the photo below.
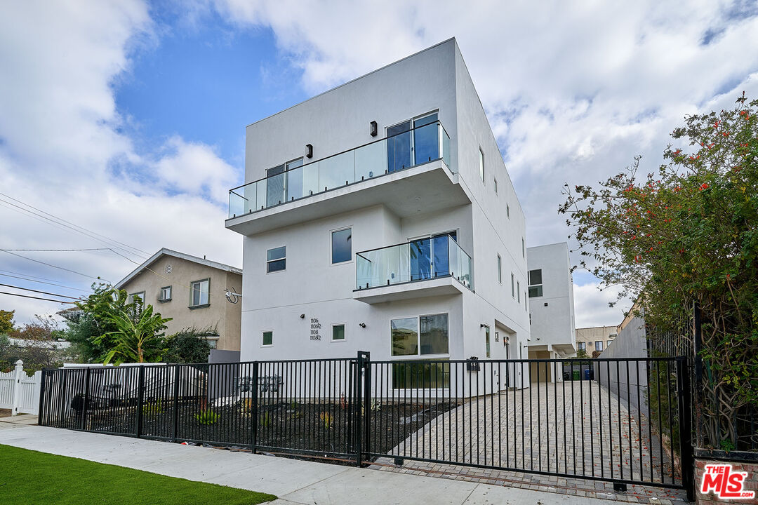
[[[246,182],[241,360],[527,357],[525,217],[455,39],[249,125]]]

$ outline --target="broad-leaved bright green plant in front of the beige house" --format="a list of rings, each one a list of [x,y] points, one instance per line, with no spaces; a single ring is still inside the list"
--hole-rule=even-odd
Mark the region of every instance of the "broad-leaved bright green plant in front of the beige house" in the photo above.
[[[122,291],[124,292],[124,291]],[[107,340],[111,345],[103,363],[145,363],[158,361],[164,352],[163,330],[171,318],[164,319],[152,312],[152,305],[143,310],[109,313],[108,320],[116,330],[96,337],[96,343]]]

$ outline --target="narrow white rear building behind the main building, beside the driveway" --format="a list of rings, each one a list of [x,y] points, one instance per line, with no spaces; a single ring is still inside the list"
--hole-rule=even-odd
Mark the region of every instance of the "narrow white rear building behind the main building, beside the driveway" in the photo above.
[[[529,307],[531,310],[531,359],[558,359],[576,354],[574,281],[568,244],[538,245],[527,249]],[[540,371],[540,382],[552,382]],[[562,380],[562,374],[557,379]],[[532,380],[536,376],[532,373]]]

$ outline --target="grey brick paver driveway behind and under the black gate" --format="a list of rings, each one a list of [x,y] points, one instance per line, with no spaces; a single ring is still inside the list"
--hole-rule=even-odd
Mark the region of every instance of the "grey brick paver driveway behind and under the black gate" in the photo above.
[[[611,482],[518,471],[672,483],[670,458],[657,443],[657,426],[633,407],[594,381],[533,383],[531,388],[467,401],[432,419],[390,452],[393,457],[463,465],[404,460],[403,466],[394,466],[393,458],[381,458],[376,466],[578,496],[684,503],[678,490],[630,485],[617,493]]]

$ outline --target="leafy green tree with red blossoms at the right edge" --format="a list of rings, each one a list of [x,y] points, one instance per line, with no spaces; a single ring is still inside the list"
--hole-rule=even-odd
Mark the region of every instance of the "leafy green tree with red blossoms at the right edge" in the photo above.
[[[566,186],[559,212],[575,227],[579,267],[601,288],[641,295],[649,326],[675,328],[700,305],[710,400],[696,407],[710,441],[736,446],[758,404],[758,101],[743,94],[685,123],[657,173],[638,173],[637,157],[597,187]]]

